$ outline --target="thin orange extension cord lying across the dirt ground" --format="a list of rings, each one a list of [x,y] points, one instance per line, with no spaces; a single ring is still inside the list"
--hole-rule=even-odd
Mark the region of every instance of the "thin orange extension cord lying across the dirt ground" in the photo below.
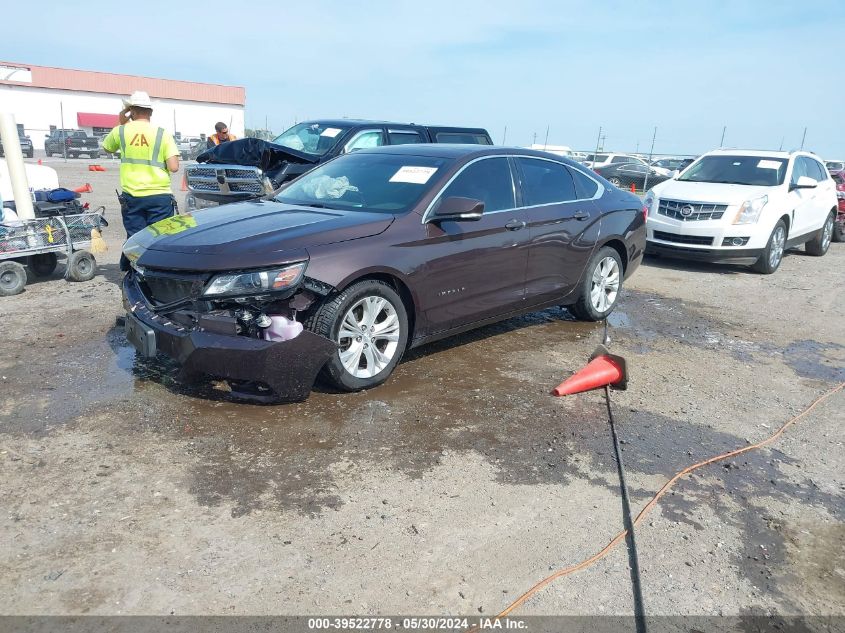
[[[810,411],[815,409],[818,404],[820,404],[824,400],[827,400],[833,394],[835,394],[838,391],[841,391],[843,388],[845,388],[845,382],[840,383],[839,386],[834,387],[830,391],[822,394],[821,396],[816,398],[810,406],[808,406],[801,413],[799,413],[794,418],[792,418],[791,420],[786,422],[773,435],[766,438],[765,440],[763,440],[761,442],[757,442],[756,444],[749,444],[748,446],[744,446],[743,448],[738,448],[738,449],[736,449],[734,451],[730,451],[728,453],[722,453],[721,455],[716,455],[715,457],[705,459],[703,462],[698,462],[697,464],[693,464],[692,466],[688,466],[688,467],[684,468],[682,471],[680,471],[678,474],[676,474],[674,477],[672,477],[669,481],[667,481],[665,484],[663,484],[663,487],[660,490],[657,491],[657,494],[655,494],[651,498],[651,501],[649,501],[645,505],[645,507],[642,510],[640,510],[640,513],[637,515],[637,518],[634,519],[634,525],[639,525],[639,523],[645,518],[645,516],[649,512],[652,511],[652,509],[654,508],[655,505],[657,505],[657,502],[660,500],[660,498],[664,494],[666,494],[666,492],[672,486],[675,485],[675,482],[677,482],[684,475],[688,475],[692,471],[697,470],[697,469],[699,469],[703,466],[707,466],[708,464],[712,464],[713,462],[718,462],[718,461],[723,460],[723,459],[728,459],[729,457],[734,457],[735,455],[742,455],[743,453],[747,453],[748,451],[753,451],[753,450],[756,450],[758,448],[762,448],[763,446],[766,446],[767,444],[771,444],[776,439],[778,439],[781,435],[783,435],[783,432],[786,431],[786,429],[788,429],[790,426],[792,426],[793,424],[798,422],[798,420],[800,420],[801,418],[806,416],[808,413],[810,413]],[[551,576],[544,578],[543,580],[538,582],[536,585],[531,587],[531,589],[529,589],[524,594],[522,594],[519,598],[514,600],[510,605],[508,605],[508,607],[504,611],[502,611],[499,615],[497,615],[496,618],[503,618],[507,615],[510,615],[515,609],[522,606],[525,603],[525,601],[528,600],[528,598],[530,598],[535,593],[540,591],[543,587],[551,584],[552,582],[554,582],[558,578],[562,578],[563,576],[568,576],[570,574],[574,574],[576,571],[580,571],[582,569],[585,569],[585,568],[589,567],[590,565],[592,565],[593,563],[601,560],[602,558],[607,556],[614,547],[619,545],[619,543],[621,543],[624,540],[624,538],[627,534],[628,534],[628,530],[622,530],[619,534],[617,534],[615,537],[613,537],[613,540],[610,541],[610,543],[608,543],[607,545],[605,545],[604,548],[601,551],[599,551],[597,554],[594,554],[590,558],[583,560],[576,565],[572,565],[570,567],[565,567],[563,569],[560,569],[560,570],[556,571],[555,573],[553,573]]]

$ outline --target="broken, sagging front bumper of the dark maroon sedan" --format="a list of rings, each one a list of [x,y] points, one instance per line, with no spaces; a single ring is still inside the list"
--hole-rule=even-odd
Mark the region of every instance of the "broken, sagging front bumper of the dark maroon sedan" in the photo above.
[[[273,342],[217,333],[203,327],[202,321],[187,327],[152,311],[132,273],[123,279],[123,303],[129,342],[143,356],[163,353],[177,361],[185,381],[207,375],[253,382],[270,389],[273,400],[304,400],[318,372],[337,350],[332,341],[308,330]]]

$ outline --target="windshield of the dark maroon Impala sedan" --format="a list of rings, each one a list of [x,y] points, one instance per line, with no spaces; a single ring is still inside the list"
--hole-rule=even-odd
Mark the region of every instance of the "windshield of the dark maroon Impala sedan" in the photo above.
[[[325,209],[402,213],[416,204],[449,162],[428,156],[355,152],[297,178],[275,199]]]

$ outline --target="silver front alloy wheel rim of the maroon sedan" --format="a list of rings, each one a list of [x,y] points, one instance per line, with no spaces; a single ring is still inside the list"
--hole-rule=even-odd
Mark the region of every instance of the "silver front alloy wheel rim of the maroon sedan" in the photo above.
[[[340,323],[340,362],[356,378],[372,378],[390,364],[400,334],[396,308],[384,297],[370,295],[355,302]]]

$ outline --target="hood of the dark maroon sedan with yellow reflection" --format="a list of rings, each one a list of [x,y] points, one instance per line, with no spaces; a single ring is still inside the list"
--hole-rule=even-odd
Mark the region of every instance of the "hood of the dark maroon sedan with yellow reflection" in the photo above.
[[[177,215],[126,241],[130,261],[156,268],[233,270],[307,258],[307,247],[378,235],[394,216],[251,201]]]

